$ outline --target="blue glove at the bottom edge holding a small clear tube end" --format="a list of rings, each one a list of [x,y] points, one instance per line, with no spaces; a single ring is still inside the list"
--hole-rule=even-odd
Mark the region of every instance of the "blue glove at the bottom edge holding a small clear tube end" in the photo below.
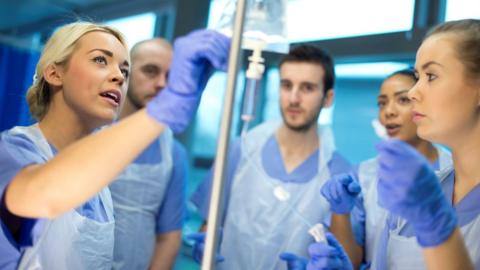
[[[341,269],[353,270],[347,253],[330,232],[325,233],[328,243],[313,243],[308,247],[310,261],[307,270]]]

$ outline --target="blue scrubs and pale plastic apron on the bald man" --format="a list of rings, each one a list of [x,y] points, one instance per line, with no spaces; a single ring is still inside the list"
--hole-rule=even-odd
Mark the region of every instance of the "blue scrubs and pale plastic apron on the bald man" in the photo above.
[[[165,136],[149,145],[110,185],[116,222],[114,269],[147,269],[156,235],[182,228],[186,152]]]

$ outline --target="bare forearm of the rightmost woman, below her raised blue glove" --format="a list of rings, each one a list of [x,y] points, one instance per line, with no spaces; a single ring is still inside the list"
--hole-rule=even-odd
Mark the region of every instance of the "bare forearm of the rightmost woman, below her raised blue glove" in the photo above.
[[[441,245],[424,248],[423,254],[428,269],[474,269],[458,228]]]

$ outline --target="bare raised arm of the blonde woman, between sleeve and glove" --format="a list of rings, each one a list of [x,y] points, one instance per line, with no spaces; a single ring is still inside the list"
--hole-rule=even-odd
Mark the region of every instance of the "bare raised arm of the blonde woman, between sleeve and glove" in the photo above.
[[[6,191],[15,215],[51,218],[87,201],[107,186],[164,126],[144,110],[58,153],[44,165],[18,173]]]

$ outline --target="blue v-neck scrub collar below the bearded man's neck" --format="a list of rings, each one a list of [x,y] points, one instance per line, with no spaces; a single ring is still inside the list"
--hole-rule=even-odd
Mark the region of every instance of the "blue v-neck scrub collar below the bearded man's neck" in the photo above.
[[[310,181],[317,175],[318,159],[319,149],[288,173],[275,134],[268,139],[262,149],[262,164],[265,172],[268,176],[283,182],[305,183]]]

